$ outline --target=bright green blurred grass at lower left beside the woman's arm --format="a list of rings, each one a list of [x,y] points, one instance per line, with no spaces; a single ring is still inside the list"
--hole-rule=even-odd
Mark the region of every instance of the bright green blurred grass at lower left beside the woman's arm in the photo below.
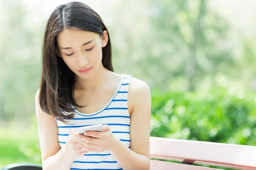
[[[35,127],[0,127],[0,132],[0,169],[13,163],[41,164],[38,132]]]

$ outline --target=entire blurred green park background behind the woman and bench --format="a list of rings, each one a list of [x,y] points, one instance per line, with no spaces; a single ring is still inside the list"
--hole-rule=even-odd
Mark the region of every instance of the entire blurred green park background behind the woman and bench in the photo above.
[[[0,168],[41,163],[43,32],[66,2],[0,0]],[[115,72],[150,86],[151,136],[256,145],[255,0],[81,2],[109,30]]]

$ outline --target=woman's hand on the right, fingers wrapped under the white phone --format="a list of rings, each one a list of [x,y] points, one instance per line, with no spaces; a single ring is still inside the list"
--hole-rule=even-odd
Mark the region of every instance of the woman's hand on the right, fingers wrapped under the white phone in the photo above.
[[[102,132],[86,131],[84,135],[75,134],[78,144],[89,152],[103,152],[111,150],[113,142],[116,140],[108,125],[103,125]]]

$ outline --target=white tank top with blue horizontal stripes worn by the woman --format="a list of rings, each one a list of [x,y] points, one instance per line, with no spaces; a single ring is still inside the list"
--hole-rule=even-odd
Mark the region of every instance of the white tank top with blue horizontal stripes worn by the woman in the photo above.
[[[74,110],[74,118],[68,121],[68,124],[72,125],[55,119],[58,125],[60,147],[67,142],[71,128],[96,124],[108,124],[113,136],[122,141],[125,146],[130,147],[130,116],[127,105],[130,78],[130,75],[122,74],[115,94],[100,111],[84,114]],[[122,168],[108,151],[104,151],[101,153],[88,152],[84,156],[77,156],[70,170],[122,170]]]

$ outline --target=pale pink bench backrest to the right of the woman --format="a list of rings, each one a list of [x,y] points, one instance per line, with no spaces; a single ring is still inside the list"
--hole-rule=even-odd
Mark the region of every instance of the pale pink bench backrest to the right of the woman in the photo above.
[[[256,147],[150,137],[151,159],[256,170]],[[216,170],[189,164],[151,160],[151,170]]]

